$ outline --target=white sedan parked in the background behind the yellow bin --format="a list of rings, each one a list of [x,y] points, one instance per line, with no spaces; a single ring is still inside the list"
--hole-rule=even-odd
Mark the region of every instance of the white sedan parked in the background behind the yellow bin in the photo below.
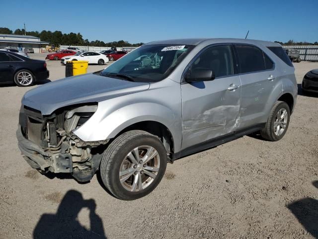
[[[66,64],[67,61],[88,61],[88,64],[104,65],[109,60],[107,56],[93,51],[78,52],[72,56],[64,56],[61,58],[61,64]]]

